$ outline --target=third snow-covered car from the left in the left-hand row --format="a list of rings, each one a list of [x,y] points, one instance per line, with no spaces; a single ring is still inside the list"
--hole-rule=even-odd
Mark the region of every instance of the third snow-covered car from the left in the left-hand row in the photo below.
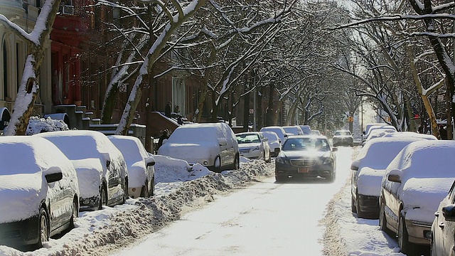
[[[127,162],[128,196],[132,198],[153,196],[155,192],[154,156],[146,151],[137,137],[111,135],[108,138],[122,152]]]

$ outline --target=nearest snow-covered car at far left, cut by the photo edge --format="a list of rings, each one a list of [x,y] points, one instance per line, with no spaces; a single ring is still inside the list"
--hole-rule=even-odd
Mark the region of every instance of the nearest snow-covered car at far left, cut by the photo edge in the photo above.
[[[0,137],[0,245],[37,245],[73,228],[79,211],[77,176],[52,143]]]

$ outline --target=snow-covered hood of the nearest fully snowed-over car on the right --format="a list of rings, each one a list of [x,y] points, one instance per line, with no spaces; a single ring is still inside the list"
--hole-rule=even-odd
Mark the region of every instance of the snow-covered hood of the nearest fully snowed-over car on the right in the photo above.
[[[432,223],[439,203],[447,196],[455,178],[410,178],[399,197],[405,204],[406,218]]]

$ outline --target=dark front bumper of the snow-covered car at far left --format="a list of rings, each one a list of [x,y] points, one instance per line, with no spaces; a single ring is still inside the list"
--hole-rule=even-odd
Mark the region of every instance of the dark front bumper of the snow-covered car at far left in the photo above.
[[[38,242],[38,215],[0,224],[0,245],[33,245]]]

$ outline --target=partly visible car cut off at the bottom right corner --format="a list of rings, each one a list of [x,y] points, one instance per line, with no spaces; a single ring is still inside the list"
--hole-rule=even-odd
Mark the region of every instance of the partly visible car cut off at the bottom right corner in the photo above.
[[[442,163],[444,164],[444,163]],[[444,164],[445,165],[445,164]],[[452,166],[446,166],[451,168]],[[432,256],[455,255],[455,182],[439,203],[432,224]]]

